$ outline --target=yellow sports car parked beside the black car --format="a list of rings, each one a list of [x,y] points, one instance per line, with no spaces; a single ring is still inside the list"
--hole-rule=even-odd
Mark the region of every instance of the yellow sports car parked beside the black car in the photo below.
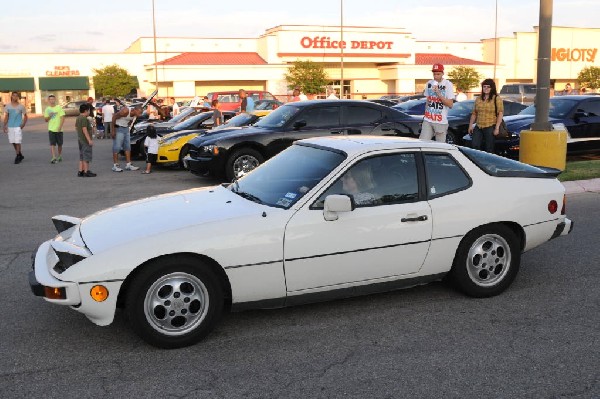
[[[180,130],[178,132],[169,133],[162,136],[158,141],[158,157],[156,163],[164,166],[182,166],[183,157],[187,154],[187,143],[196,136],[201,134],[213,134],[225,129],[240,129],[242,126],[247,126],[255,123],[270,111],[260,111],[260,115],[240,114],[231,118],[227,123],[217,126],[211,130]],[[258,112],[257,112],[258,113]]]

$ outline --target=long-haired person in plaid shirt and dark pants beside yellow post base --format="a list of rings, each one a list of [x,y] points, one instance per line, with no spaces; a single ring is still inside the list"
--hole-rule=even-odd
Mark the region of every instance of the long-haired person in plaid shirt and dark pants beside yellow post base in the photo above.
[[[504,103],[496,92],[496,83],[493,79],[485,79],[481,82],[481,95],[475,99],[469,120],[468,132],[473,138],[473,148],[494,152],[494,141],[500,131],[503,114]],[[476,127],[473,127],[474,124]]]

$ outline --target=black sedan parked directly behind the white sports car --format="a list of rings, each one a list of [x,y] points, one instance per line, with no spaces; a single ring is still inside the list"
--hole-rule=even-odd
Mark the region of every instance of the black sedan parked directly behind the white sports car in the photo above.
[[[421,119],[362,100],[287,103],[242,131],[192,139],[186,168],[193,173],[239,178],[294,141],[330,135],[419,134]]]

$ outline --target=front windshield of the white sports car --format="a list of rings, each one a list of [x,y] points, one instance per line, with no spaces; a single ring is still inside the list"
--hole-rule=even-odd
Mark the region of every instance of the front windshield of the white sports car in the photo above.
[[[335,169],[346,154],[297,144],[229,185],[241,197],[276,208],[290,208]]]

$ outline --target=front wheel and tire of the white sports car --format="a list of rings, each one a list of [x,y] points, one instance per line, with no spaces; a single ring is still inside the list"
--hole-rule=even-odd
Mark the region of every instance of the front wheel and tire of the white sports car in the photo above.
[[[182,348],[215,327],[223,312],[223,289],[205,264],[176,255],[142,267],[128,288],[125,312],[144,341]]]

